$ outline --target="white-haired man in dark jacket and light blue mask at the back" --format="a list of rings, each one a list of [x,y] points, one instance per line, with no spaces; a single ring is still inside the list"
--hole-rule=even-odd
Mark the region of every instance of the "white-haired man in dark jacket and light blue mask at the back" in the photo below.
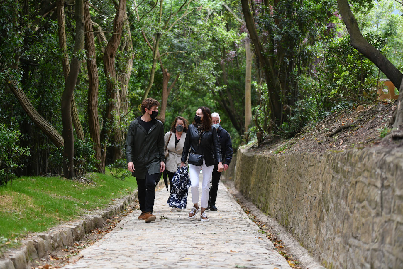
[[[224,171],[226,171],[231,163],[232,159],[232,144],[229,133],[226,129],[220,126],[220,115],[218,113],[211,113],[211,119],[213,121],[213,127],[217,129],[218,140],[221,146],[221,156],[222,160],[225,160]],[[217,211],[216,200],[218,191],[218,182],[220,181],[221,172],[217,171],[217,161],[214,163],[213,175],[211,177],[211,188],[210,188],[210,198],[208,199],[208,204],[211,211]],[[207,208],[208,209],[208,208]]]

